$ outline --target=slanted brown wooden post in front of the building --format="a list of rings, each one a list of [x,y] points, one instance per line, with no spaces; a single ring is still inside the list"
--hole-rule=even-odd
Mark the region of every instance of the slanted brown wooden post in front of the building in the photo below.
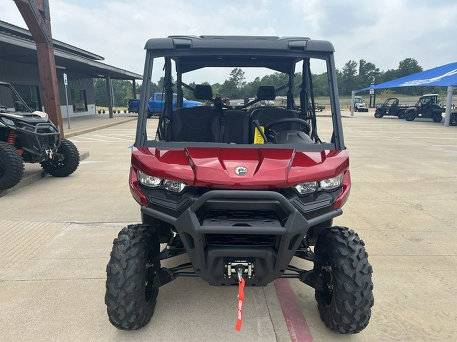
[[[41,96],[49,119],[59,126],[63,138],[62,114],[59,105],[57,72],[51,35],[51,17],[48,0],[13,0],[37,44]]]

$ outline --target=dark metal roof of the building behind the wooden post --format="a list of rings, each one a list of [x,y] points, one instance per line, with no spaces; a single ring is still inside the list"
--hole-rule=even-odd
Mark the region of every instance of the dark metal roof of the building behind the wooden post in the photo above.
[[[55,64],[60,69],[86,74],[90,77],[140,80],[142,75],[100,62],[104,58],[72,45],[53,40]],[[37,46],[30,32],[19,26],[0,21],[0,59],[38,64]]]

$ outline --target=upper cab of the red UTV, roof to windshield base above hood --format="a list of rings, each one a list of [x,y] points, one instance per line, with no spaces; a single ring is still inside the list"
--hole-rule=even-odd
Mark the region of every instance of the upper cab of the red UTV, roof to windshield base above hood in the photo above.
[[[151,39],[145,48],[135,146],[345,148],[330,43],[289,37],[179,36]],[[163,74],[152,75],[157,63]],[[225,81],[194,81],[197,72],[212,75],[221,69],[227,70]],[[243,70],[249,71],[249,80]],[[164,107],[158,119],[147,120],[143,99],[150,98],[153,79],[161,81]],[[183,103],[184,95],[204,105]]]

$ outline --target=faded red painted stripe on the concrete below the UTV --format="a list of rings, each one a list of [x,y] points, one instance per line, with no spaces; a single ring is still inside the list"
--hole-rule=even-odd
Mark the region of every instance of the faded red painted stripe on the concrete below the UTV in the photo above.
[[[313,336],[309,331],[290,281],[288,279],[277,279],[274,284],[290,339],[293,342],[311,342]]]

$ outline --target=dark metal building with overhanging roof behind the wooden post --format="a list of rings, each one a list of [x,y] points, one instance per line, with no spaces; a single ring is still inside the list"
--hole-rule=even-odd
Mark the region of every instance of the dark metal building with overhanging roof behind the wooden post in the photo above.
[[[93,78],[135,80],[142,75],[102,63],[102,56],[53,40],[62,117],[67,117],[63,73],[68,75],[70,117],[95,114]],[[27,29],[0,20],[0,81],[11,83],[32,109],[41,100],[37,48]]]

